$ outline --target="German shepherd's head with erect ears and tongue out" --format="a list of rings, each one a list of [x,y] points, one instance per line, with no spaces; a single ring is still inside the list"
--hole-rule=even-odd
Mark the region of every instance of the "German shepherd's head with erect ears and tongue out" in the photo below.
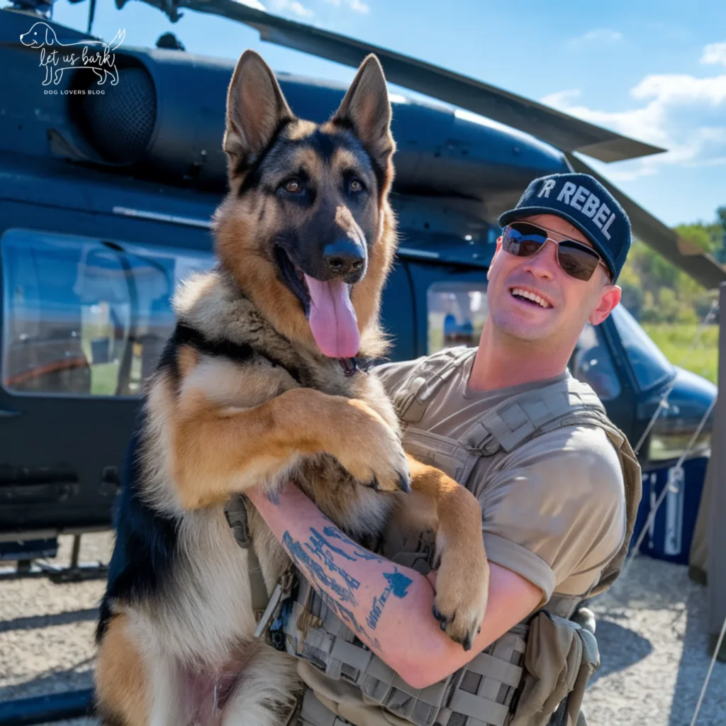
[[[393,258],[386,79],[367,57],[330,121],[295,118],[272,70],[242,54],[227,94],[221,264],[278,330],[331,357],[378,323]]]

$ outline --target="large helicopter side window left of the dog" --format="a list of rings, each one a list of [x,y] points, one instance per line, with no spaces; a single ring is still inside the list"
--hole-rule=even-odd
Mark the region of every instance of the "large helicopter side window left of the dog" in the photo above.
[[[211,253],[24,229],[0,240],[2,385],[139,396],[174,326],[171,296]]]

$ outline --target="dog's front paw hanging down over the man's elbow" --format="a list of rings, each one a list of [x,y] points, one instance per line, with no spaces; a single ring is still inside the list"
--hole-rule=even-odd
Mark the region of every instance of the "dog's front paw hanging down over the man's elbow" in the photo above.
[[[466,564],[464,562],[466,561]],[[467,557],[444,552],[436,574],[433,616],[441,629],[464,650],[470,650],[481,631],[489,595],[489,562],[486,556]]]

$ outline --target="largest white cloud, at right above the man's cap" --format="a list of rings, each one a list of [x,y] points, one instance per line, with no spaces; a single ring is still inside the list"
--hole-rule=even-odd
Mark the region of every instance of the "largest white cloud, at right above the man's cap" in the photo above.
[[[624,111],[598,111],[579,104],[580,91],[550,94],[542,103],[624,136],[667,149],[663,154],[608,167],[613,181],[656,174],[664,164],[683,167],[726,163],[726,75],[696,78],[651,75],[630,89],[643,105]]]

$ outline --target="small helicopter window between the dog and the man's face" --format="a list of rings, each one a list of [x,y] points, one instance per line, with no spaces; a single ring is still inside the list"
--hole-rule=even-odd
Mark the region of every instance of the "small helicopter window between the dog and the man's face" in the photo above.
[[[434,282],[426,293],[428,352],[453,346],[476,346],[489,313],[486,285]]]

